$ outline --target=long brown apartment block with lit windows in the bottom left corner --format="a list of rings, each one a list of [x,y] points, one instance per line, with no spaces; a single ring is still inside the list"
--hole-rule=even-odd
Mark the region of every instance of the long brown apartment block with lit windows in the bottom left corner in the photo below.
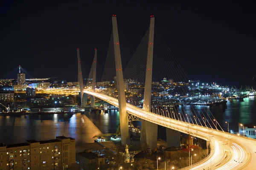
[[[75,162],[75,139],[65,136],[47,141],[0,144],[1,170],[65,170]]]

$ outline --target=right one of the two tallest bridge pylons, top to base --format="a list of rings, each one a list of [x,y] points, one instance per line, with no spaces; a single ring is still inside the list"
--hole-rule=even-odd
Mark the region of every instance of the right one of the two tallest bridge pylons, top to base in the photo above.
[[[152,68],[153,68],[153,48],[154,48],[154,15],[150,16],[148,34],[148,54],[146,65],[146,77],[144,88],[143,110],[151,111],[151,88],[152,88]],[[157,124],[142,120],[140,134],[141,145],[148,146],[152,150],[157,147]]]

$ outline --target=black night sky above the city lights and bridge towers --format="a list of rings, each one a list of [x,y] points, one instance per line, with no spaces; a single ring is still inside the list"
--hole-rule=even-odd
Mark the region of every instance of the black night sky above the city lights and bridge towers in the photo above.
[[[155,26],[189,79],[256,87],[253,1],[89,2],[2,0],[0,79],[15,78],[21,65],[32,77],[76,81],[76,48],[80,48],[84,78],[90,71],[94,48],[98,49],[100,79],[112,14],[117,15],[119,28],[134,48],[154,14]]]

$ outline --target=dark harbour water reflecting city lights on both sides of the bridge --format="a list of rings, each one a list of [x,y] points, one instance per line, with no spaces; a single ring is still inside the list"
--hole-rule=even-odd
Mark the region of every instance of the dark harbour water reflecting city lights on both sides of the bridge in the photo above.
[[[180,110],[182,112],[183,109],[180,108]],[[228,101],[227,105],[185,106],[184,110],[192,112],[193,110],[203,110],[208,120],[209,117],[217,119],[226,131],[227,124],[225,124],[225,121],[230,122],[230,130],[235,132],[238,131],[239,123],[256,125],[256,100],[254,97],[245,98],[244,102]],[[186,113],[191,114],[191,112]],[[197,113],[197,116],[199,116],[199,113]],[[189,118],[189,121],[192,120]],[[93,142],[92,137],[99,133],[115,133],[118,126],[119,112],[116,111],[108,114],[87,112],[73,115],[0,116],[0,143],[14,144],[25,142],[28,139],[48,140],[62,135],[75,138],[77,143],[88,143]],[[165,135],[165,129],[159,126],[158,137],[166,139]]]

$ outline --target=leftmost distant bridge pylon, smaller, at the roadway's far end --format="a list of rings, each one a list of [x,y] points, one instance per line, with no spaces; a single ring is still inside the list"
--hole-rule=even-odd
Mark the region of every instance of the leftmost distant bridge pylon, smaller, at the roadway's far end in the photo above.
[[[77,48],[77,61],[78,61],[78,82],[80,84],[81,106],[85,107],[87,105],[87,94],[84,94],[84,83],[83,83],[79,48]]]

